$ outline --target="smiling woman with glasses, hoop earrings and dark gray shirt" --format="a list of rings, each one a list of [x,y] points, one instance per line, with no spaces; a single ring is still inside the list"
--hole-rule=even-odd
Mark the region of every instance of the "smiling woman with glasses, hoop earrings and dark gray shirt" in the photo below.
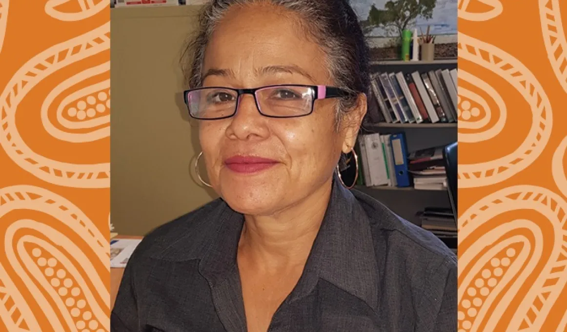
[[[455,331],[454,254],[335,175],[369,89],[348,2],[215,0],[191,47],[222,198],[138,246],[112,331]]]

